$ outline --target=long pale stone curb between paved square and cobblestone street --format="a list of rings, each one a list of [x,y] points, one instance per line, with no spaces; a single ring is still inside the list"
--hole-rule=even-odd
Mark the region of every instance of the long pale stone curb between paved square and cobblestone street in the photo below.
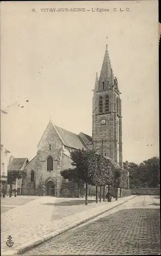
[[[79,226],[79,225],[81,225],[81,224],[83,224],[83,223],[85,223],[85,222],[87,222],[89,220],[92,220],[92,219],[98,217],[99,215],[104,214],[107,211],[110,211],[110,210],[112,210],[112,209],[114,209],[114,208],[116,208],[116,207],[118,207],[118,206],[120,206],[120,205],[122,205],[124,203],[127,203],[128,201],[130,201],[131,199],[133,199],[135,197],[136,196],[133,196],[132,198],[130,198],[129,200],[124,201],[123,203],[114,205],[111,208],[103,210],[103,211],[99,212],[98,214],[95,214],[95,215],[93,215],[91,217],[88,217],[88,218],[86,218],[86,219],[84,219],[82,221],[77,220],[77,221],[75,221],[75,222],[73,222],[73,223],[71,223],[69,225],[66,225],[65,227],[62,227],[60,229],[57,229],[57,230],[55,230],[53,232],[50,232],[50,233],[46,234],[46,236],[43,236],[41,238],[37,238],[37,239],[35,239],[35,240],[31,241],[31,242],[26,242],[23,245],[17,246],[13,250],[8,250],[8,251],[5,251],[4,253],[2,252],[1,255],[2,256],[10,256],[10,255],[22,254],[22,253],[24,253],[24,252],[26,252],[26,251],[28,251],[30,249],[33,249],[34,247],[36,247],[36,246],[46,242],[47,240],[49,240],[51,238],[57,237],[59,234],[65,232],[65,231],[67,231],[67,230],[69,230],[71,228]]]

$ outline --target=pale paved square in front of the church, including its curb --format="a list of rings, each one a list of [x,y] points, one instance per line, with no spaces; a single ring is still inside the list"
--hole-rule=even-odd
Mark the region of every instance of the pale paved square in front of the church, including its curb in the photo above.
[[[82,198],[40,197],[19,205],[1,215],[1,253],[20,254],[133,197],[135,196],[97,204],[94,198],[88,198],[88,205],[85,205],[85,199]],[[11,248],[6,245],[8,236],[11,236],[14,242]]]

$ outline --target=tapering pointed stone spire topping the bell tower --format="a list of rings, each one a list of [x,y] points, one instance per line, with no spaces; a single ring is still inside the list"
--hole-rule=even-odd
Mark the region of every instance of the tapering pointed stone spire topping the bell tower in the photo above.
[[[101,88],[102,81],[105,82],[106,86],[110,86],[110,87],[113,86],[113,79],[114,79],[114,75],[113,75],[110,56],[108,52],[108,44],[106,44],[102,69],[99,77],[100,88]]]

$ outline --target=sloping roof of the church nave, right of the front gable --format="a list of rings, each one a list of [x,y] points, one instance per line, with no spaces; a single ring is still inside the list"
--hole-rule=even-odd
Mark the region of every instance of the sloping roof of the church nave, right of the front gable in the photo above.
[[[62,138],[64,145],[72,147],[72,148],[84,148],[84,144],[82,143],[82,141],[79,139],[78,135],[72,132],[69,132],[59,126],[56,126],[56,129],[60,135],[60,137]]]

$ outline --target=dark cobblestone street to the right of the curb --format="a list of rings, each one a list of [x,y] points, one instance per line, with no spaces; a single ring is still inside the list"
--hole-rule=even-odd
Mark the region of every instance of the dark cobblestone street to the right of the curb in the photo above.
[[[160,254],[159,197],[139,196],[23,255]]]

